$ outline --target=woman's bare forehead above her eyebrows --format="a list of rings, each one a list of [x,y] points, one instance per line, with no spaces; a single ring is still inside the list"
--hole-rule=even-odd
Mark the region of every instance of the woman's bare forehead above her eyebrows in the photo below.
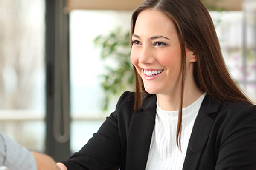
[[[154,9],[142,11],[136,20],[134,34],[171,35],[176,33],[172,20],[163,12]]]

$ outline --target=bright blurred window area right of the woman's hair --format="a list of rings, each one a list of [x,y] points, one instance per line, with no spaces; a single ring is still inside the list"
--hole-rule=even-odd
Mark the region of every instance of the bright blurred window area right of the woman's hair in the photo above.
[[[255,13],[211,11],[227,68],[247,96],[256,102]]]

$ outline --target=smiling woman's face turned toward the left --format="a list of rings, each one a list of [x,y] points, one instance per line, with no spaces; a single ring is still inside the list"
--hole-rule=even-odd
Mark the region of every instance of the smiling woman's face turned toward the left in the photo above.
[[[156,10],[139,14],[132,35],[131,62],[148,93],[179,93],[181,48],[175,26],[166,14]]]

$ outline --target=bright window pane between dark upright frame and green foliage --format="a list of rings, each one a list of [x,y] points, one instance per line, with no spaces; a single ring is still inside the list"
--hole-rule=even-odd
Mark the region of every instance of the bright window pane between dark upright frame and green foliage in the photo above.
[[[70,12],[71,151],[79,150],[96,133],[116,101],[103,113],[100,74],[101,49],[93,40],[100,34],[122,28],[129,31],[131,11],[73,10]]]

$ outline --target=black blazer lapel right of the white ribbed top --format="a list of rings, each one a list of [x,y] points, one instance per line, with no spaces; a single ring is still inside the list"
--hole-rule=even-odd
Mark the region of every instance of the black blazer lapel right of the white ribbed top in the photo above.
[[[201,153],[214,123],[213,115],[211,114],[216,113],[219,107],[219,103],[211,99],[208,94],[205,96],[189,139],[183,170],[196,170]]]

